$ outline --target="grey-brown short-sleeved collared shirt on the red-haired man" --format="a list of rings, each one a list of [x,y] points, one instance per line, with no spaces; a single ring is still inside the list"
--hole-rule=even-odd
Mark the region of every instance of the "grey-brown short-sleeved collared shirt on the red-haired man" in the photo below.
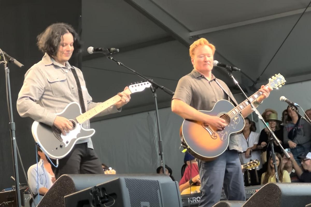
[[[228,100],[236,103],[236,100],[231,100],[227,94],[216,83],[216,80],[225,89],[225,91],[233,97],[230,89],[220,79],[212,74],[212,78],[208,81],[197,70],[192,70],[191,73],[183,76],[177,84],[175,94],[172,99],[179,99],[186,104],[192,106],[196,110],[212,110],[214,105],[219,100]],[[242,147],[239,145],[239,139],[230,136],[229,149],[243,152]]]

